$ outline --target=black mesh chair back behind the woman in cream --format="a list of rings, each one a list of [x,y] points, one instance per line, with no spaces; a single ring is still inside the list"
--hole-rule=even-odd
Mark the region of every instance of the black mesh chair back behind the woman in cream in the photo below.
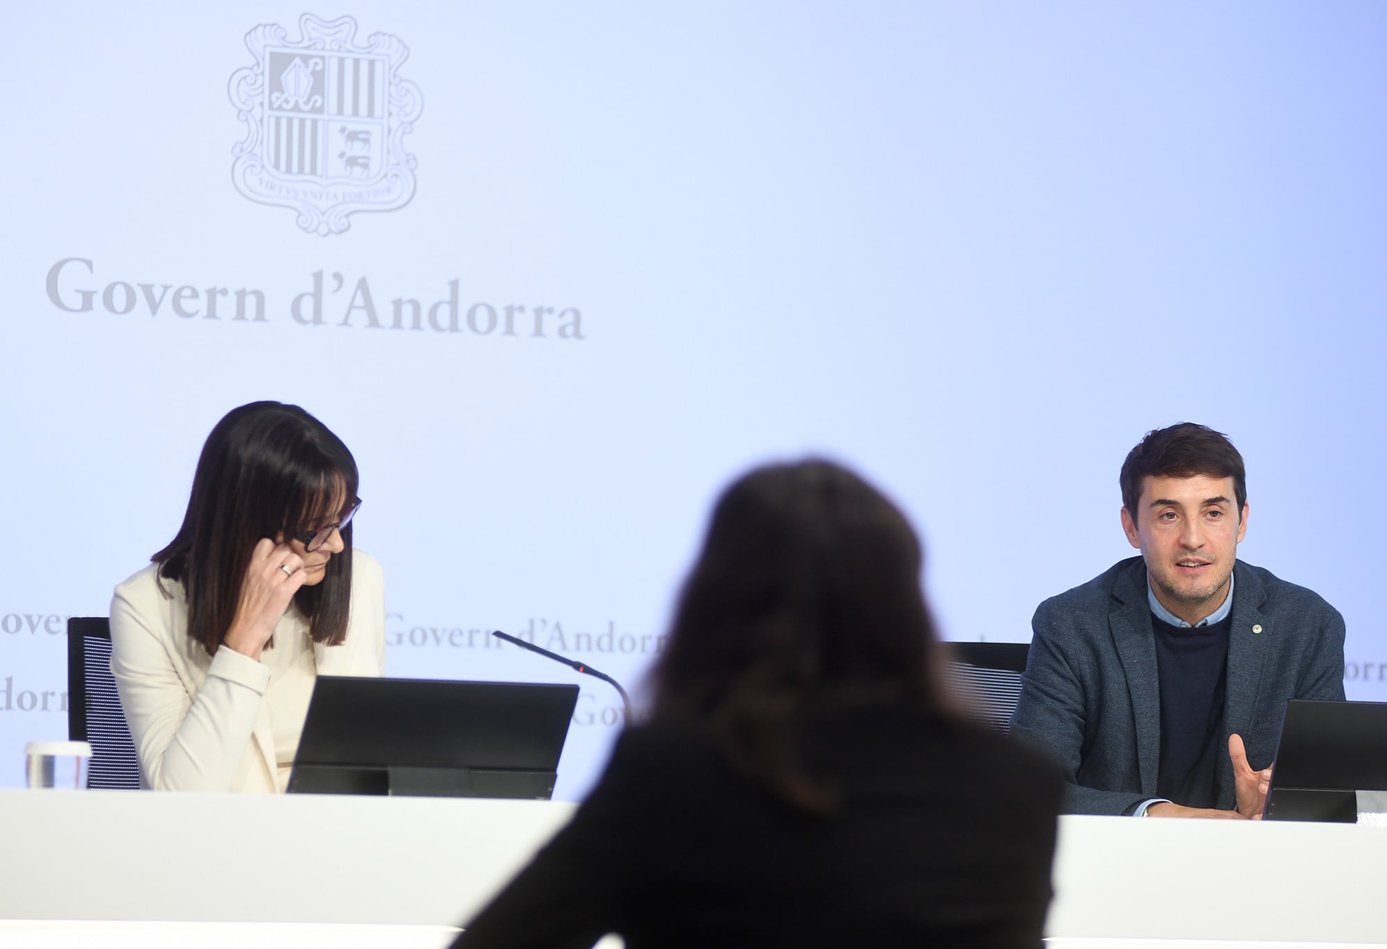
[[[89,788],[139,789],[140,763],[111,674],[111,622],[68,620],[68,738],[92,744]]]

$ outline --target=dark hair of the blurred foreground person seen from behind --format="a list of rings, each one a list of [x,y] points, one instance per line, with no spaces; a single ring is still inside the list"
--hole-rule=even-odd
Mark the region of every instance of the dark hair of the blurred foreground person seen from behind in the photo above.
[[[817,710],[949,710],[921,548],[875,488],[825,461],[761,468],[718,499],[653,673],[653,716],[713,731],[734,767],[809,812],[834,806],[798,751]]]

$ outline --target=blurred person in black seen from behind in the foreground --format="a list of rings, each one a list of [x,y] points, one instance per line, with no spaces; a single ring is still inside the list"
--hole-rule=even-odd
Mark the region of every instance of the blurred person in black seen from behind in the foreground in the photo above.
[[[456,946],[1039,946],[1062,777],[942,685],[910,524],[832,463],[732,484],[653,710]]]

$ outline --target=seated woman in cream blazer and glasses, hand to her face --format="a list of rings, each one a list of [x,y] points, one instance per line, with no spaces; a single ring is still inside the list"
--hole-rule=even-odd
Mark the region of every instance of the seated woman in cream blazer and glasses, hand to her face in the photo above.
[[[178,536],[111,601],[141,787],[284,791],[318,674],[384,673],[356,486],[347,445],[297,405],[241,405],[212,429]]]

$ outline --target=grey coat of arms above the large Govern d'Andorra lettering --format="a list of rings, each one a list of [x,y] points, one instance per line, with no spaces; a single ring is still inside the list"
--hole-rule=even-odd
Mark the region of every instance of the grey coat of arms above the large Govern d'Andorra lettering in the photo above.
[[[404,137],[423,110],[419,86],[397,74],[409,47],[356,21],[304,14],[300,37],[262,24],[245,35],[255,65],[232,74],[229,93],[245,122],[232,154],[236,190],[293,208],[298,226],[338,234],[356,211],[394,211],[415,194],[415,157]]]

